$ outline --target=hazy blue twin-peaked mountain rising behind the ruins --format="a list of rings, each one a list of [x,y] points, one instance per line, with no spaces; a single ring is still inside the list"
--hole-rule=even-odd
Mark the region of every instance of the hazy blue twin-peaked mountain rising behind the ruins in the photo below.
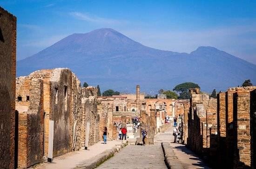
[[[182,82],[198,83],[202,90],[256,84],[256,65],[214,47],[178,53],[150,48],[113,29],[75,33],[45,50],[17,62],[17,75],[43,68],[68,67],[81,81],[100,84],[101,89],[146,92],[172,89]]]

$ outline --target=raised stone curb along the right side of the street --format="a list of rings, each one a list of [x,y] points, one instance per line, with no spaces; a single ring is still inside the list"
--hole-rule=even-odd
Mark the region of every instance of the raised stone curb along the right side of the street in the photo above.
[[[168,169],[184,169],[168,142],[162,142],[164,161]]]

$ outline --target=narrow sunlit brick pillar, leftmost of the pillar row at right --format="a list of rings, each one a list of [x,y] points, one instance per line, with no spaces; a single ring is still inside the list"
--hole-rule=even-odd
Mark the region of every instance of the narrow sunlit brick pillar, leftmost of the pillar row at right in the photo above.
[[[226,136],[226,93],[217,94],[217,126],[218,135]]]

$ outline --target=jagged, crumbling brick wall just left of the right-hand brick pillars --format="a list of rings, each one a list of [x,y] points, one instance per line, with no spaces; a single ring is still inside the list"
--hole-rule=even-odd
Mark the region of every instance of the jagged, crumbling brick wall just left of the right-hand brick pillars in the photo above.
[[[216,130],[217,100],[199,89],[190,89],[189,147],[199,154],[209,153],[210,135]]]

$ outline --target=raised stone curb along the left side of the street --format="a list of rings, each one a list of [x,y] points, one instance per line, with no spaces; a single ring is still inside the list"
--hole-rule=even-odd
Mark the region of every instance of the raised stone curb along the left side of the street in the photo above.
[[[84,162],[81,162],[78,164],[74,169],[94,169],[97,166],[101,165],[104,163],[106,160],[114,156],[114,154],[118,151],[120,151],[122,148],[127,146],[128,143],[121,143],[120,145],[115,146],[112,149],[105,150],[103,153],[94,156],[93,158],[86,160]]]

